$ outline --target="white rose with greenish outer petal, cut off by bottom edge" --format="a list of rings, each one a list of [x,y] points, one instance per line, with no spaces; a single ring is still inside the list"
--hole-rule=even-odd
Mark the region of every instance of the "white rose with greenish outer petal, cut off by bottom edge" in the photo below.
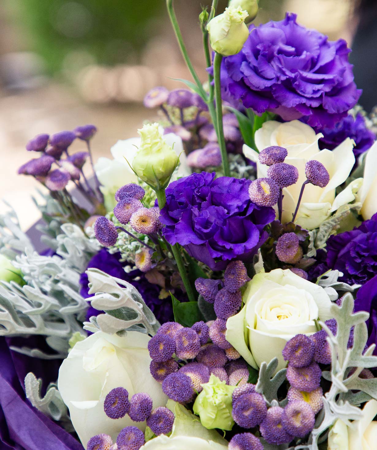
[[[175,419],[170,437],[162,434],[146,442],[140,450],[226,450],[228,443],[215,430],[207,430],[197,416],[172,400],[168,408]]]

